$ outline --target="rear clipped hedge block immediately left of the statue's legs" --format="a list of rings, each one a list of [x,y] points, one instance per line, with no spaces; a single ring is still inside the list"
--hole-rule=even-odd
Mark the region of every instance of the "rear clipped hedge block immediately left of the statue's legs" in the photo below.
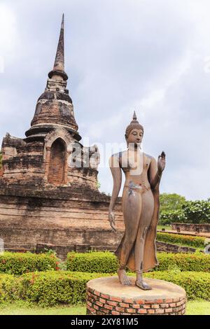
[[[66,269],[90,273],[114,273],[118,265],[118,258],[113,253],[92,251],[90,253],[68,253]]]

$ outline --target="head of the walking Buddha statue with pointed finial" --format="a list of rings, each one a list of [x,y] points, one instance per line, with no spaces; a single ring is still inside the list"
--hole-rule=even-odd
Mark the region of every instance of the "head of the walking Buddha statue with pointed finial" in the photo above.
[[[144,127],[140,125],[139,121],[137,120],[136,113],[134,111],[133,120],[125,130],[125,139],[127,141],[127,146],[129,146],[129,144],[132,144],[137,147],[139,144],[141,144],[143,135]]]

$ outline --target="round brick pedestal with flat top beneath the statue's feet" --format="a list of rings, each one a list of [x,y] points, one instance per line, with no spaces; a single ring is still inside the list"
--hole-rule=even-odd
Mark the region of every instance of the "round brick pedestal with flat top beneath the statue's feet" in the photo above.
[[[182,315],[186,311],[186,291],[174,283],[145,279],[152,290],[123,286],[117,276],[87,282],[87,314],[99,315]]]

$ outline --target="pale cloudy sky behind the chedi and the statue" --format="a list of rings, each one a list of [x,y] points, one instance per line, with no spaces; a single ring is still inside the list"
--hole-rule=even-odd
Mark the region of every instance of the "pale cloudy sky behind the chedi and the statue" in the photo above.
[[[136,110],[144,151],[167,154],[161,192],[210,197],[209,0],[0,0],[0,139],[30,127],[62,13],[69,92],[80,134],[102,151],[101,190],[112,190],[103,146],[124,143]]]

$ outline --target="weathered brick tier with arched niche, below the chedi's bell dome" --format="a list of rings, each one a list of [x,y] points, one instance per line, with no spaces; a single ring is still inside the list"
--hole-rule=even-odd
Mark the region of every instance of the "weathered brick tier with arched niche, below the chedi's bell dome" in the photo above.
[[[48,141],[48,135],[52,137],[52,141],[55,138],[48,148],[48,153],[45,150],[45,139],[43,141],[26,139],[26,143],[23,139],[5,137],[1,148],[2,184],[39,185],[45,190],[49,188],[48,185],[67,184],[72,187],[85,186],[97,190],[97,168],[83,167],[83,160],[80,167],[73,167],[68,162],[69,153],[66,149],[72,142],[69,132],[58,128],[53,130],[53,134],[51,132],[46,134],[46,141]],[[63,139],[65,136],[66,141]]]

